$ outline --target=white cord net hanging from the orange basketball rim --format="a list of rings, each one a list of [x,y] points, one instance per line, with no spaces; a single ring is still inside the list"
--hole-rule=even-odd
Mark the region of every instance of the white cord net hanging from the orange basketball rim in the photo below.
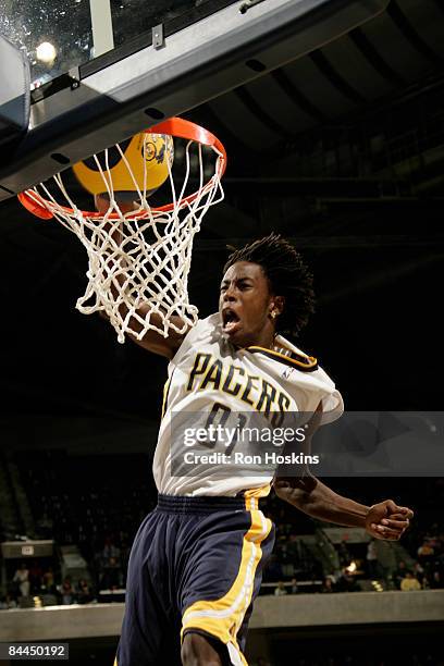
[[[126,162],[120,146],[116,145],[116,148]],[[195,194],[186,197],[192,172],[192,148],[198,156],[198,185],[193,188]],[[203,169],[202,145],[195,140],[186,144],[185,178],[180,189],[174,184],[169,163],[173,201],[170,210],[150,207],[147,198],[149,183],[145,180],[144,189],[134,181],[134,198],[140,202],[137,210],[122,212],[114,198],[109,169],[102,169],[97,157],[96,163],[106,185],[103,192],[108,192],[110,199],[106,213],[97,215],[79,210],[63,184],[62,174],[53,176],[53,181],[69,208],[60,205],[44,183],[26,192],[33,201],[40,206],[44,203],[85,246],[88,254],[88,284],[76,308],[84,314],[104,312],[120,343],[125,341],[125,333],[138,340],[148,330],[155,330],[165,337],[170,329],[185,333],[197,321],[198,310],[189,304],[187,282],[193,240],[210,206],[223,199],[220,178],[225,157],[215,146],[211,148],[214,165],[209,176]],[[127,162],[126,165],[131,170]],[[139,310],[141,306],[146,312],[144,316]],[[175,316],[182,320],[182,325],[177,325],[177,320],[174,323],[172,318]]]

